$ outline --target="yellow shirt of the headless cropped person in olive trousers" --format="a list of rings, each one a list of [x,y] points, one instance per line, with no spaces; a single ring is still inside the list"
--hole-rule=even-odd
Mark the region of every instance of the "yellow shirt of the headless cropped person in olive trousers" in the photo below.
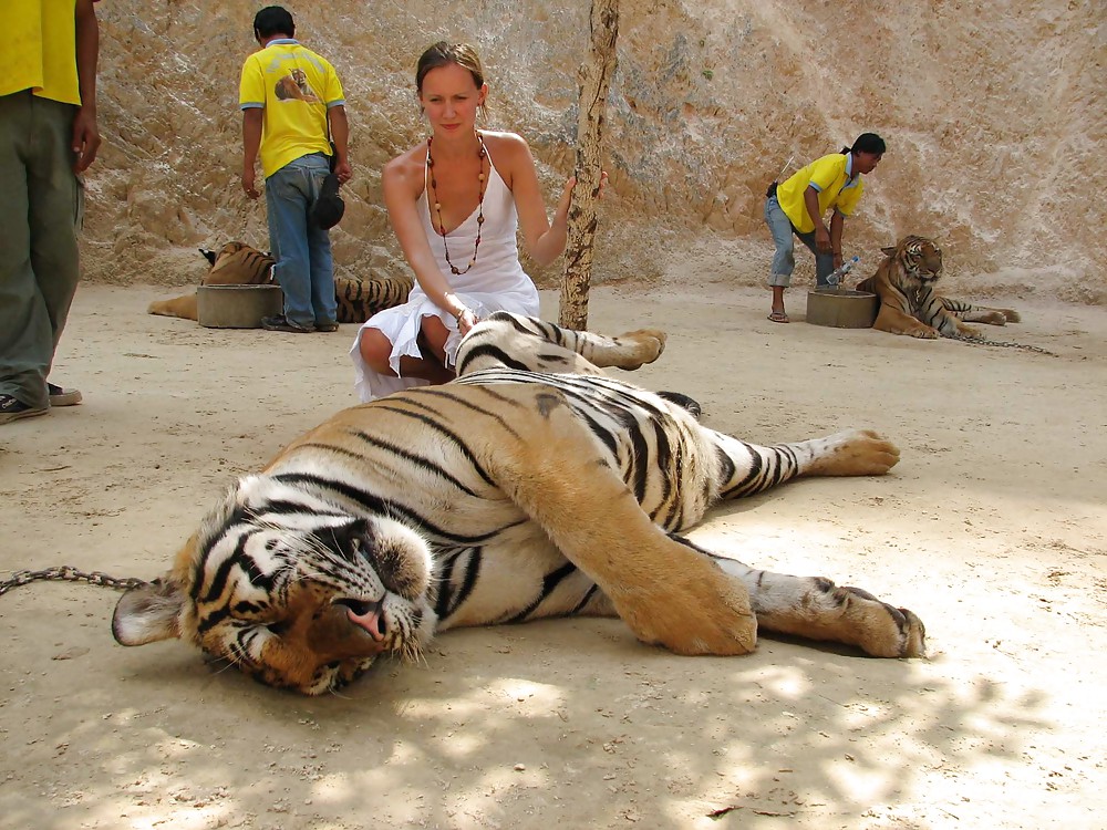
[[[4,3],[8,33],[0,95],[30,90],[39,97],[81,105],[75,13],[75,0]]]

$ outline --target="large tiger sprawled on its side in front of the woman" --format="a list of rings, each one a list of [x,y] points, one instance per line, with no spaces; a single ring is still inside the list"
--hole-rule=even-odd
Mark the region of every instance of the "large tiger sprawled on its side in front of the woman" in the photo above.
[[[618,615],[679,654],[745,654],[762,626],[922,655],[910,611],[680,536],[720,499],[882,475],[899,450],[860,429],[754,446],[599,369],[652,362],[664,340],[494,314],[457,380],[345,409],[242,478],[162,579],[122,596],[115,639],[177,637],[309,695],[436,632],[549,616]]]

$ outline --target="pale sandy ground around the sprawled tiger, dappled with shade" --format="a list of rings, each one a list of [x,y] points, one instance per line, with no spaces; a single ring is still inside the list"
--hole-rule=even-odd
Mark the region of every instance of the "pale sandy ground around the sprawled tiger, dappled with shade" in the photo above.
[[[54,380],[85,403],[0,427],[0,577],[154,578],[235,476],[353,402],[352,326],[144,314],[165,295],[77,294]],[[987,333],[1045,356],[809,325],[789,299],[786,326],[767,292],[612,287],[589,322],[668,330],[638,380],[715,428],[892,437],[891,475],[795,483],[693,538],[913,609],[929,658],[681,658],[557,621],[451,633],[310,699],[121,647],[113,591],[38,582],[0,598],[0,826],[1103,827],[1107,309],[996,302],[1026,322]]]

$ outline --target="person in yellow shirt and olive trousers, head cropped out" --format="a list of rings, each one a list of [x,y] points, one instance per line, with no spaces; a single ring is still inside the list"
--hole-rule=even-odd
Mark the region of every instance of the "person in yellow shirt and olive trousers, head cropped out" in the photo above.
[[[0,424],[80,403],[46,381],[81,278],[80,179],[96,157],[94,0],[4,8],[0,73]]]

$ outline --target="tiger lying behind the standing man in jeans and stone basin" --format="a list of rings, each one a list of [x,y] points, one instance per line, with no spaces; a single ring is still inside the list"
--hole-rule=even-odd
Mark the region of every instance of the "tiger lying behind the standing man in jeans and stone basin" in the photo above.
[[[245,242],[227,242],[218,251],[205,248],[199,251],[210,264],[200,280],[201,286],[268,286],[273,281],[273,258]],[[355,280],[335,277],[338,320],[340,323],[363,323],[377,311],[406,302],[413,284],[411,278]],[[152,302],[146,311],[196,320],[196,293]]]

